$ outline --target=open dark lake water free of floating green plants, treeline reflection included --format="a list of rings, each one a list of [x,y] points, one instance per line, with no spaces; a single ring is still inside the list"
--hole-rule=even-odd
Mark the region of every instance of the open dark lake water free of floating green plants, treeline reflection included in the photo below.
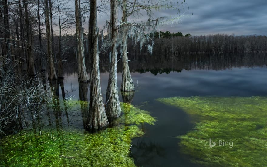
[[[176,138],[194,128],[191,118],[183,110],[159,103],[155,99],[177,96],[267,95],[266,55],[184,55],[163,58],[148,55],[130,56],[129,60],[136,87],[132,104],[150,111],[157,119],[155,125],[144,124],[142,130],[145,135],[132,141],[130,155],[138,166],[198,165],[192,164],[190,158],[179,151],[179,139]],[[119,62],[118,71],[120,67]],[[105,99],[109,74],[104,72],[104,65],[100,64],[100,69],[101,88]],[[122,73],[118,72],[119,88],[121,77]],[[66,73],[64,85],[66,90],[74,88],[76,91],[69,95],[79,99],[75,72]],[[123,101],[121,94],[120,101]],[[82,124],[80,126],[82,127]]]

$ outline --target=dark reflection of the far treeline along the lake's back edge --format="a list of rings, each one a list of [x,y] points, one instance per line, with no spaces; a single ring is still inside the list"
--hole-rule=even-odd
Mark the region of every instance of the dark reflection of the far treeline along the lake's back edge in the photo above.
[[[75,61],[72,56],[70,61]],[[118,54],[118,60],[120,54]],[[265,67],[267,66],[267,54],[264,53],[238,53],[238,54],[180,54],[180,55],[129,55],[130,72],[146,73],[154,75],[170,72],[181,72],[181,70],[225,70],[240,67]],[[88,61],[87,66],[89,66]],[[100,72],[108,72],[109,58],[100,56]],[[66,73],[76,71],[75,64],[68,64]],[[69,68],[72,67],[72,68]],[[89,71],[88,71],[89,72]],[[117,63],[117,72],[122,72],[121,59]]]

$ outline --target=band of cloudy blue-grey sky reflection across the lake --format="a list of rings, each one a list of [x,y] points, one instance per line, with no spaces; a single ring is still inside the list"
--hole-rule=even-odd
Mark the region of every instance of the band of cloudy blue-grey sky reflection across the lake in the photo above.
[[[131,73],[136,87],[134,104],[159,97],[174,96],[265,96],[267,68],[233,68],[232,70],[182,70],[169,74]],[[118,88],[121,73],[117,74]],[[101,89],[105,99],[109,73],[101,73]],[[138,82],[138,87],[137,87]],[[74,74],[64,78],[66,97],[79,99],[79,84]],[[69,93],[67,93],[69,92]],[[88,97],[90,92],[88,91]],[[61,90],[59,89],[61,97]],[[121,98],[120,98],[121,99]]]

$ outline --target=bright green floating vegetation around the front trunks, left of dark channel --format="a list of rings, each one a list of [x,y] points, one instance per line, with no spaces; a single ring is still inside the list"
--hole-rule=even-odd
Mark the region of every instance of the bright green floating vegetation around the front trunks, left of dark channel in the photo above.
[[[45,126],[6,136],[0,140],[0,166],[135,166],[131,139],[144,134],[139,124],[156,120],[133,105],[121,107],[124,114],[113,120],[117,126],[96,133],[66,129],[59,119],[52,130]]]

